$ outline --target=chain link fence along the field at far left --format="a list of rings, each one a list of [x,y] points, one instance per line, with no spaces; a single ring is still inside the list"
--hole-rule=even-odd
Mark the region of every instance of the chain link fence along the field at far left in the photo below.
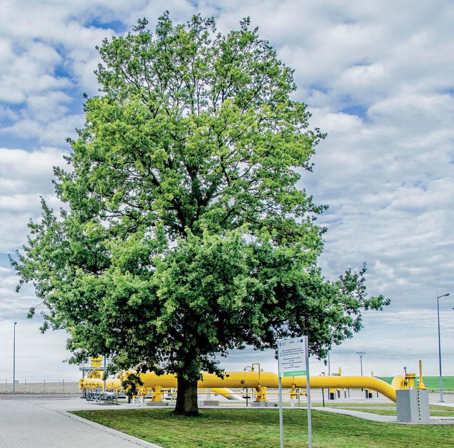
[[[16,394],[78,394],[78,380],[17,380],[15,383]],[[0,394],[12,394],[13,381],[0,379]]]

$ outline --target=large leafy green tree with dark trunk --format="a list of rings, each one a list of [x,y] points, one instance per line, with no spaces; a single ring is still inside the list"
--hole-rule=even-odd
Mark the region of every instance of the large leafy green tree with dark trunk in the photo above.
[[[365,269],[331,282],[317,266],[324,206],[296,184],[324,135],[249,19],[227,35],[200,16],[146,25],[98,48],[101,94],[54,169],[65,210],[43,201],[12,262],[73,362],[175,373],[175,412],[194,415],[217,356],[307,334],[323,359],[387,301],[367,296]]]

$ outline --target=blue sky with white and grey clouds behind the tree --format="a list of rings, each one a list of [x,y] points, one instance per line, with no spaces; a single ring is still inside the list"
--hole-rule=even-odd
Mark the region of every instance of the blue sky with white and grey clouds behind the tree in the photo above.
[[[153,29],[169,10],[176,22],[214,16],[219,31],[250,16],[260,35],[295,69],[294,99],[308,104],[311,126],[327,132],[312,173],[300,180],[329,204],[320,259],[335,280],[368,263],[371,294],[391,305],[367,312],[364,329],[334,347],[330,370],[393,376],[438,374],[437,291],[443,373],[454,375],[454,3],[442,0],[0,0],[0,382],[76,379],[62,363],[63,331],[39,333],[26,319],[32,287],[15,292],[7,254],[26,242],[40,216],[39,196],[59,203],[52,166],[64,165],[65,139],[84,123],[82,94],[98,94],[95,45],[124,34],[138,18]],[[235,351],[229,370],[258,361],[276,370],[272,352]],[[328,367],[311,360],[311,372]]]

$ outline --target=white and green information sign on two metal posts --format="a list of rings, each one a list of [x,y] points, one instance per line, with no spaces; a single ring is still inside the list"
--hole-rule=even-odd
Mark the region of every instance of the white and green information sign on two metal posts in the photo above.
[[[309,350],[307,336],[278,340],[279,370],[279,429],[281,448],[284,447],[284,427],[282,418],[282,377],[306,375],[308,391],[308,436],[312,448],[311,386],[309,384]]]

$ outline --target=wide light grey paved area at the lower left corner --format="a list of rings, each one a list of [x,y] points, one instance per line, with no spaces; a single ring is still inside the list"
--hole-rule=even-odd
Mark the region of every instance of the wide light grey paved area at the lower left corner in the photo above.
[[[103,406],[109,409],[116,406]],[[90,408],[85,400],[1,400],[0,448],[161,448],[87,424],[65,411]]]

